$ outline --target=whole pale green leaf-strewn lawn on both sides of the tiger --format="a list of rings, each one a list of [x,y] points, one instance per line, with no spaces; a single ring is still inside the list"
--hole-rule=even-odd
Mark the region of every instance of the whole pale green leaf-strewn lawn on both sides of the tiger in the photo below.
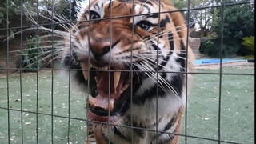
[[[219,70],[197,70],[197,72],[218,73]],[[221,98],[219,98],[219,74],[194,74],[194,85],[188,98],[186,134],[206,139],[188,137],[187,143],[218,143],[218,141],[210,141],[207,138],[218,140],[219,102],[221,102],[221,140],[245,144],[254,143],[254,75],[241,75],[254,74],[254,69],[225,68],[222,72],[224,74],[222,75]],[[240,75],[234,75],[234,73]],[[36,143],[37,126],[39,143],[50,143],[51,141],[66,143],[69,130],[67,118],[69,108],[70,142],[84,142],[86,122],[82,119],[86,118],[84,108],[86,94],[75,90],[74,86],[71,86],[69,91],[68,77],[61,77],[57,73],[52,75],[51,72],[39,72],[38,81],[37,74],[22,74],[21,78],[19,74],[10,74],[8,81],[9,107],[13,109],[10,110],[9,117],[10,143],[21,143],[21,141]],[[7,87],[6,77],[0,78],[0,107],[2,108],[7,107]],[[22,110],[36,112],[37,95],[38,113],[40,113],[38,122],[35,113],[15,111],[21,110],[22,106]],[[68,106],[69,100],[70,107]],[[52,117],[51,110],[54,115],[64,118]],[[78,118],[78,120],[72,118]],[[185,119],[185,115],[183,119]],[[8,142],[7,122],[7,110],[0,109],[0,143]],[[182,134],[185,134],[185,120]],[[185,138],[181,139],[181,143],[185,143]]]

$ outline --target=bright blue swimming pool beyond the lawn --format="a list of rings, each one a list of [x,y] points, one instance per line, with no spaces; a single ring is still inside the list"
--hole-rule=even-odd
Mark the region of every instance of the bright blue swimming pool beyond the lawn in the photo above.
[[[194,60],[194,65],[202,65],[202,64],[214,64],[220,63],[221,60],[218,58],[202,58]],[[246,62],[245,59],[232,59],[232,58],[223,58],[222,63],[224,62]]]

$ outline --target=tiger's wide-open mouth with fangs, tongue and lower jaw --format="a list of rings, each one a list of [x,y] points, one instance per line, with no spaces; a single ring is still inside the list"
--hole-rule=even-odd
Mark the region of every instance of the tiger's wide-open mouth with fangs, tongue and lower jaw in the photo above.
[[[107,121],[107,116],[120,113],[130,97],[130,71],[123,66],[82,64],[83,76],[90,81],[88,98],[91,119]]]

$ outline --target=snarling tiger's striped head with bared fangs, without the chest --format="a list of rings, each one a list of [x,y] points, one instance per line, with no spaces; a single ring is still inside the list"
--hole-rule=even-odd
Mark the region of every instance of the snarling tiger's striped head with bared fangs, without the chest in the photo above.
[[[182,101],[174,76],[185,72],[186,26],[174,10],[153,0],[94,0],[83,10],[63,61],[88,87],[90,119],[116,122],[156,91]]]

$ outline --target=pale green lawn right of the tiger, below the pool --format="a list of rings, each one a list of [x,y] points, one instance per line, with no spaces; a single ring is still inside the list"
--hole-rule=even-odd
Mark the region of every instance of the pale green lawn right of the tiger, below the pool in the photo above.
[[[221,102],[221,140],[254,143],[254,75],[234,75],[254,74],[254,69],[224,68],[221,98],[220,76],[209,74],[219,70],[197,72],[206,74],[194,74],[194,85],[188,98],[187,135],[218,140],[218,111]],[[184,143],[184,138],[182,140]],[[187,138],[187,143],[218,142]]]

